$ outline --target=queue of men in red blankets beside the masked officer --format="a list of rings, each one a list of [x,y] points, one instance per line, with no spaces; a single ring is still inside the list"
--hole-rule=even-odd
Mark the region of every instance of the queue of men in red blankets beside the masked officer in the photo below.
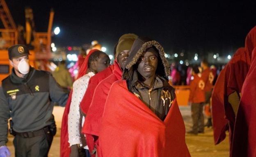
[[[61,157],[190,157],[164,55],[133,33],[119,38],[113,65],[91,50],[64,111]]]

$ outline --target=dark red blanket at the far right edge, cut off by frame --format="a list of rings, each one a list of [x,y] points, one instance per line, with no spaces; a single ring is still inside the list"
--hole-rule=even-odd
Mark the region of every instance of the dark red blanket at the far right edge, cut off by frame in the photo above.
[[[256,49],[242,87],[238,115],[235,120],[232,157],[256,157]]]

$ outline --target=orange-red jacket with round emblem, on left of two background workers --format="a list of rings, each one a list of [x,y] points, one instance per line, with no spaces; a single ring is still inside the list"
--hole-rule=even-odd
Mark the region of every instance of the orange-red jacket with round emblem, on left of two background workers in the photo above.
[[[201,103],[205,102],[205,83],[201,77],[194,75],[194,79],[190,82],[189,102]]]

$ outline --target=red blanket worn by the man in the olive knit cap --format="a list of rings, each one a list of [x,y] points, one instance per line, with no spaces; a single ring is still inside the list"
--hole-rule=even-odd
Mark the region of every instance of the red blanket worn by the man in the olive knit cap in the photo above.
[[[98,146],[98,135],[100,131],[101,117],[103,115],[105,102],[107,100],[107,95],[109,93],[111,85],[117,80],[121,79],[122,70],[117,61],[115,60],[113,73],[109,77],[101,81],[96,87],[94,91],[94,96],[91,101],[91,105],[86,115],[82,133],[86,135],[86,142],[90,148],[90,152],[92,152],[96,144],[98,157],[101,157],[100,148]]]

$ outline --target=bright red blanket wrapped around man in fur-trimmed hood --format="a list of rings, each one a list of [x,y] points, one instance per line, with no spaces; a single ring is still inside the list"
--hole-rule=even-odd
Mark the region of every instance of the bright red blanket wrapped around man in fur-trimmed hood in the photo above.
[[[190,157],[176,99],[163,122],[128,91],[126,80],[110,88],[99,145],[103,157]]]

